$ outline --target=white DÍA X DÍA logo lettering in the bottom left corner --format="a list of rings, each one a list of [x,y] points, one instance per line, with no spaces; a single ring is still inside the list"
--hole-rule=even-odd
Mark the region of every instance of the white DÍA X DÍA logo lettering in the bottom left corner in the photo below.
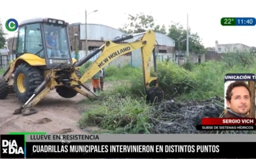
[[[16,140],[2,140],[3,153],[24,154],[22,147],[18,147]]]

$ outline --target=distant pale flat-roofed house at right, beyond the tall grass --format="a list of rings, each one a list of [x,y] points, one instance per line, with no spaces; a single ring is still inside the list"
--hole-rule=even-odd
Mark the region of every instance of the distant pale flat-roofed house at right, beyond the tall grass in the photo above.
[[[250,46],[244,45],[242,43],[219,44],[217,40],[215,41],[216,53],[250,52],[250,48]]]

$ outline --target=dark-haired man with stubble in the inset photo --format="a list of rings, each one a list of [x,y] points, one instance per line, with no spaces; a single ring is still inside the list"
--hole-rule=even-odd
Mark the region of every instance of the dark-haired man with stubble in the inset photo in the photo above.
[[[243,81],[231,83],[226,91],[227,112],[224,118],[249,118],[251,91]]]

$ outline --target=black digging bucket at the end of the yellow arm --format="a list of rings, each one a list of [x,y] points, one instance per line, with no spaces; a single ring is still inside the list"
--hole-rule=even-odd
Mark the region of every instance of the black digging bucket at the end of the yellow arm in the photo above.
[[[164,98],[164,92],[159,87],[152,87],[146,90],[146,100],[150,103],[159,103]]]

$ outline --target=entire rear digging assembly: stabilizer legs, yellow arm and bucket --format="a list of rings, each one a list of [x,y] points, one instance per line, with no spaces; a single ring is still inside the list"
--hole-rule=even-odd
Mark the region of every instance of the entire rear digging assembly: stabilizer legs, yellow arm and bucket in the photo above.
[[[107,66],[108,63],[110,63],[112,60],[116,59],[117,57],[126,54],[128,52],[131,52],[135,49],[141,49],[141,55],[142,55],[142,68],[143,68],[143,75],[144,75],[144,84],[145,84],[145,91],[146,91],[146,100],[150,103],[156,103],[160,102],[163,99],[163,91],[158,87],[157,77],[151,77],[150,76],[150,70],[151,70],[151,58],[152,58],[152,52],[154,57],[154,68],[156,71],[156,60],[155,60],[155,54],[154,54],[154,48],[155,48],[155,34],[152,30],[149,30],[145,33],[141,33],[137,36],[142,35],[142,38],[139,40],[136,40],[134,42],[129,43],[117,43],[124,40],[132,39],[134,36],[126,36],[123,38],[118,38],[115,40],[107,40],[104,45],[101,47],[95,49],[90,53],[88,56],[82,58],[79,61],[76,61],[73,66],[68,66],[67,69],[65,67],[63,68],[57,68],[59,66],[56,66],[56,68],[53,68],[48,71],[47,77],[45,80],[35,89],[34,94],[28,99],[28,101],[21,106],[19,109],[16,109],[13,114],[20,114],[23,115],[29,115],[36,113],[37,111],[35,109],[30,109],[30,107],[35,106],[44,96],[46,96],[52,89],[55,88],[55,86],[58,86],[56,83],[56,71],[63,71],[63,70],[73,70],[71,71],[71,79],[72,81],[69,83],[69,87],[73,88],[74,91],[81,93],[82,95],[92,98],[91,95],[88,93],[85,93],[82,91],[82,89],[79,89],[78,86],[81,85],[86,90],[90,91],[92,94],[97,96],[94,92],[92,92],[88,86],[86,86],[84,83],[91,79],[95,74],[97,74],[102,68]],[[79,79],[75,73],[75,70],[77,67],[80,67],[84,63],[86,63],[90,58],[95,56],[97,53],[102,51],[102,53],[99,55],[99,57],[93,62],[91,67],[84,73],[84,75]],[[61,67],[62,65],[60,65]],[[65,66],[65,65],[64,65]],[[69,71],[68,71],[69,72]],[[155,84],[153,87],[150,87],[150,83],[152,81],[155,81]]]

